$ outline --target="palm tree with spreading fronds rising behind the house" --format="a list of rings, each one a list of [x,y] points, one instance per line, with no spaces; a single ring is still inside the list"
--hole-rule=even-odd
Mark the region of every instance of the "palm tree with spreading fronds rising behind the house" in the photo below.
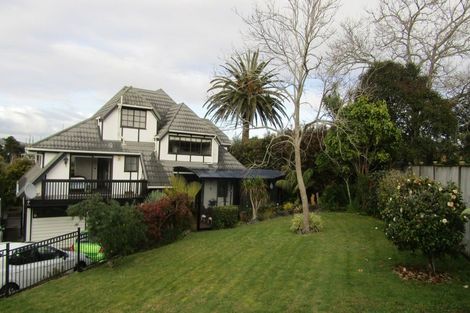
[[[208,98],[204,106],[206,116],[212,120],[240,123],[243,127],[242,142],[250,136],[250,124],[261,122],[282,127],[282,117],[287,116],[282,101],[283,93],[276,88],[277,75],[267,70],[269,61],[259,61],[259,52],[250,52],[231,58],[222,68],[225,75],[211,81]]]

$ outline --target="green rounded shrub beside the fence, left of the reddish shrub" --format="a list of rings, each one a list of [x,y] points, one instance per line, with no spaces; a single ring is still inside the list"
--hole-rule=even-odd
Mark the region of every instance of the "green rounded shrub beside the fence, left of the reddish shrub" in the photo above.
[[[100,243],[108,259],[131,254],[146,243],[142,215],[129,204],[105,202],[100,195],[93,195],[71,205],[67,213],[86,218],[90,239]]]

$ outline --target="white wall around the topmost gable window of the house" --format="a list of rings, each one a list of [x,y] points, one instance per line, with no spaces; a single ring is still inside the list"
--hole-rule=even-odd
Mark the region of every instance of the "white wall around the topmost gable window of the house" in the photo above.
[[[119,110],[115,108],[103,121],[103,139],[121,140],[121,121]],[[147,110],[146,128],[122,127],[122,137],[126,141],[153,142],[157,133],[157,118]]]

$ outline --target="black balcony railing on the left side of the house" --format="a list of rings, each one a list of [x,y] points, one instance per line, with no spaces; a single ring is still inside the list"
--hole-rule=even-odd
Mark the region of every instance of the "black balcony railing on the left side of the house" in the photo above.
[[[139,199],[147,193],[147,181],[46,179],[40,199],[80,200],[96,193],[105,199]]]

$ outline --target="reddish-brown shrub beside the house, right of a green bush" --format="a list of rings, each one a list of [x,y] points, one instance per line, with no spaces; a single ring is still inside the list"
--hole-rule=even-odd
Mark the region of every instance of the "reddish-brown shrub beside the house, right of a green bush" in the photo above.
[[[173,192],[156,202],[139,205],[150,242],[171,242],[188,230],[192,217],[190,203],[191,199],[186,193]]]

